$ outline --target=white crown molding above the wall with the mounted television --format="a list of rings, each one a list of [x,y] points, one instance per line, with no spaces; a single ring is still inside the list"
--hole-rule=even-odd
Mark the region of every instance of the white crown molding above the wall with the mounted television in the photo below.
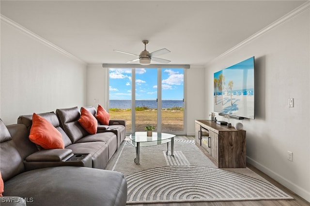
[[[263,36],[264,34],[266,34],[267,32],[271,31],[272,29],[275,29],[276,27],[280,26],[281,24],[289,21],[290,19],[294,18],[297,15],[300,15],[301,13],[307,11],[310,9],[310,1],[305,2],[304,4],[300,5],[299,7],[295,8],[294,10],[292,10],[291,12],[289,12],[288,14],[282,16],[281,18],[279,18],[278,20],[276,20],[275,22],[271,23],[270,25],[268,25],[267,27],[263,28],[262,30],[256,32],[255,34],[253,34],[252,36],[248,37],[247,39],[245,39],[244,41],[240,42],[239,44],[233,46],[231,49],[227,50],[226,52],[222,53],[221,55],[217,56],[215,59],[212,59],[210,62],[208,62],[206,64],[209,65],[212,62],[221,59],[222,57],[233,53],[234,51],[236,51],[237,49],[239,49],[240,47],[252,42],[253,40]]]

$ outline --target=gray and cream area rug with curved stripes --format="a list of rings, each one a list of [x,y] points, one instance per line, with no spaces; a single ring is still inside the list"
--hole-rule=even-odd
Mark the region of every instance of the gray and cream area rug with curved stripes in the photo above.
[[[121,149],[113,170],[126,177],[128,204],[293,199],[248,168],[218,169],[194,140],[175,140],[174,157],[167,144],[141,147],[140,165],[135,147]]]

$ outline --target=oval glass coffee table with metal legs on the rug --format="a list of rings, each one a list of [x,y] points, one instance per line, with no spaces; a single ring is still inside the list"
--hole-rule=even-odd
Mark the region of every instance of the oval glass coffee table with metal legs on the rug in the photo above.
[[[130,134],[131,144],[136,147],[135,163],[140,164],[140,147],[155,146],[167,143],[167,152],[169,150],[169,142],[171,142],[171,156],[173,156],[173,139],[174,134],[152,132],[152,136],[148,137],[146,132],[135,132]]]

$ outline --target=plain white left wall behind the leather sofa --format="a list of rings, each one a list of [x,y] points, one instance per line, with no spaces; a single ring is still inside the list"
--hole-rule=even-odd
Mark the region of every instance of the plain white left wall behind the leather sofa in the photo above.
[[[0,118],[86,103],[86,65],[1,22]]]

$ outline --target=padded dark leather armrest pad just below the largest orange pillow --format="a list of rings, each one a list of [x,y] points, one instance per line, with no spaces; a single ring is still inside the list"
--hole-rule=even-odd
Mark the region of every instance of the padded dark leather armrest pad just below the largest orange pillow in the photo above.
[[[71,149],[45,149],[37,151],[28,157],[27,162],[60,162],[72,154]]]

